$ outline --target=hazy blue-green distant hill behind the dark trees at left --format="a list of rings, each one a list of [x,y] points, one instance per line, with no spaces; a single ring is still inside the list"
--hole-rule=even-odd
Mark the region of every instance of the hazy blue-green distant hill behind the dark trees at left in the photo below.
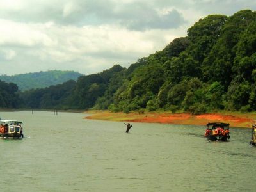
[[[62,84],[68,80],[76,81],[82,75],[74,71],[49,70],[13,76],[1,75],[0,80],[6,83],[15,83],[19,86],[19,90],[25,91],[33,88],[45,88],[51,85]]]

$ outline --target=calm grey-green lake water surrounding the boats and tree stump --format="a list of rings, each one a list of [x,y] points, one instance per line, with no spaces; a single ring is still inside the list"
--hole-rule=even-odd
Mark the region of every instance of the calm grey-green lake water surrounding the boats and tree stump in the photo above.
[[[86,114],[0,112],[24,122],[0,140],[0,191],[255,191],[250,129],[209,142],[202,126],[83,119]],[[231,125],[232,126],[232,125]]]

